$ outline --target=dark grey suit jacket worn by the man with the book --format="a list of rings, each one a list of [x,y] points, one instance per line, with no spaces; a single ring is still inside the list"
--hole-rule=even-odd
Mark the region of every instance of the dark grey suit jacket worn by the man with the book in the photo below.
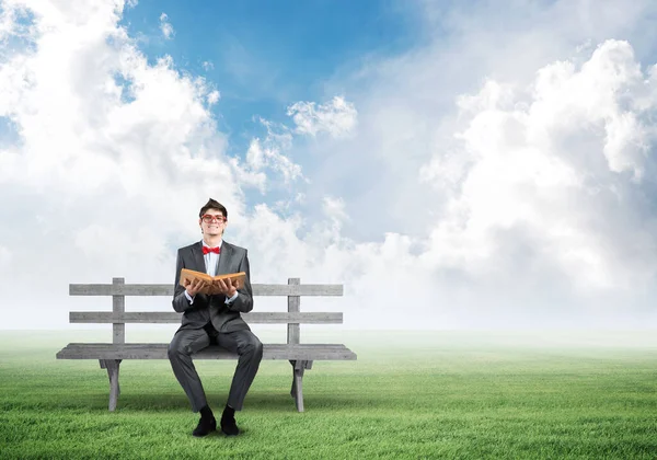
[[[219,332],[251,330],[240,314],[240,312],[247,313],[253,310],[249,257],[244,248],[223,241],[219,256],[219,267],[217,268],[217,275],[235,272],[246,273],[244,286],[238,289],[238,298],[230,306],[227,306],[226,296],[223,295],[208,296],[206,294],[197,294],[194,297],[194,303],[189,304],[187,297],[185,297],[185,288],[180,285],[181,269],[188,268],[207,273],[201,246],[201,242],[198,241],[178,249],[177,252],[172,304],[175,311],[183,313],[182,325],[178,331],[184,329],[201,329],[209,321],[212,322],[212,325]]]

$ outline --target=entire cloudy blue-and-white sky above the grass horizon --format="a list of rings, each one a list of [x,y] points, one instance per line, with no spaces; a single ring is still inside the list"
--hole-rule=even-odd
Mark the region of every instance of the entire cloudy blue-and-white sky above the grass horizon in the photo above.
[[[30,326],[172,281],[211,196],[253,283],[344,284],[309,306],[346,327],[657,327],[654,1],[127,3],[0,0]]]

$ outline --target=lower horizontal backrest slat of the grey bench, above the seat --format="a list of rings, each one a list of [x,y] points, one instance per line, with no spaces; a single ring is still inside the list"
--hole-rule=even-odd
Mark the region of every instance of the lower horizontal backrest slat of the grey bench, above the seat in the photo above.
[[[180,323],[181,314],[175,311],[127,311],[115,313],[111,311],[71,311],[71,323]],[[342,312],[250,312],[244,313],[244,320],[261,324],[342,324]],[[124,326],[125,327],[125,326]],[[123,343],[123,342],[122,342]],[[299,343],[299,342],[290,342]]]

